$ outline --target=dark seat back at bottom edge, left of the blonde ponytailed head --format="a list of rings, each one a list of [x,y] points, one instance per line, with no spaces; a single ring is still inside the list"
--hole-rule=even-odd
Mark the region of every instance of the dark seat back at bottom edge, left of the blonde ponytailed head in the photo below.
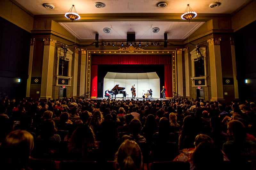
[[[61,161],[60,162],[60,170],[101,170],[100,165],[96,161]]]

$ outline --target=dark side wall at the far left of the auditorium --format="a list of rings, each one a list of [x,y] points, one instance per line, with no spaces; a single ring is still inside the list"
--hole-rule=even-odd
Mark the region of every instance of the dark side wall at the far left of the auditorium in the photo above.
[[[0,17],[0,99],[26,97],[29,42],[30,33]]]

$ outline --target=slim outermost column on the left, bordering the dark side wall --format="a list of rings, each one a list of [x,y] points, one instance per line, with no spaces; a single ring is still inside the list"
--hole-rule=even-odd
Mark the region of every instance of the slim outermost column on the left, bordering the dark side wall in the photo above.
[[[27,80],[27,92],[26,97],[30,97],[30,83],[31,83],[31,74],[32,74],[32,63],[34,55],[34,46],[35,39],[30,39],[30,51],[29,51],[29,63],[28,63],[28,80]]]

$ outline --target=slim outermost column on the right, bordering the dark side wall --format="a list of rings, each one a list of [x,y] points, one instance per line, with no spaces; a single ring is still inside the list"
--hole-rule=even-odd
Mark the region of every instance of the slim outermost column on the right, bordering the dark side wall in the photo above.
[[[232,57],[235,99],[238,99],[239,96],[238,96],[238,84],[236,79],[236,54],[235,54],[235,44],[234,44],[233,38],[230,38],[230,47],[231,47],[231,57]]]

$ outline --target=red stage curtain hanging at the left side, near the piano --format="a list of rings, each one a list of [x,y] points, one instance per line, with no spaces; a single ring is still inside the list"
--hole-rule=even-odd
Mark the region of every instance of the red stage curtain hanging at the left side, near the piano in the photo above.
[[[98,95],[98,65],[93,64],[91,67],[91,97]]]

